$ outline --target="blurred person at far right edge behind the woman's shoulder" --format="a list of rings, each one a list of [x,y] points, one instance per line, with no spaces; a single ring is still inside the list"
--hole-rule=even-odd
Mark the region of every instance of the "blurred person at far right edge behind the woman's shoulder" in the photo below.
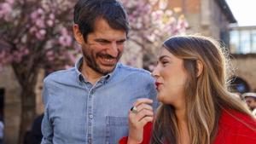
[[[256,115],[256,93],[244,93],[241,98],[247,102],[247,106]]]

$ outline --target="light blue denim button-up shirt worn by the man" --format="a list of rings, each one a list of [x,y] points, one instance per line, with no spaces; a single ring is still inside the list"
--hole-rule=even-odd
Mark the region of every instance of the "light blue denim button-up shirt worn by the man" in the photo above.
[[[75,67],[44,79],[41,144],[114,144],[128,135],[128,112],[138,98],[154,100],[154,79],[143,69],[118,64],[90,84]]]

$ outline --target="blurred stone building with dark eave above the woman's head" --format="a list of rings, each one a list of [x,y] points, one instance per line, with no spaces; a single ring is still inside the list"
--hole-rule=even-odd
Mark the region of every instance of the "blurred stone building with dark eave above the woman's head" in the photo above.
[[[169,1],[171,9],[181,8],[189,22],[187,33],[229,41],[230,23],[236,19],[225,0],[178,0]]]

